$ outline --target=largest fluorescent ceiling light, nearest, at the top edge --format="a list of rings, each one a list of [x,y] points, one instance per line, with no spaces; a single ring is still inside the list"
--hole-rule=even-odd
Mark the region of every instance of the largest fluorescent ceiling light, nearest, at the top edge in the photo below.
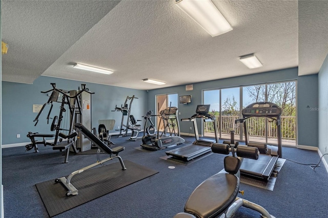
[[[213,37],[232,30],[211,0],[176,0],[175,5]]]

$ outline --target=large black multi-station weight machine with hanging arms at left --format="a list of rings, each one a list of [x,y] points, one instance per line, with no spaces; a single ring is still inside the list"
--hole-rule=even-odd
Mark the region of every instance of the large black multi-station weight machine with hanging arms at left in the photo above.
[[[51,92],[51,95],[48,101],[42,106],[41,110],[39,111],[33,122],[35,122],[34,126],[36,126],[38,123],[38,118],[42,114],[44,108],[47,105],[51,105],[47,116],[47,123],[49,123],[49,119],[51,119],[50,114],[53,108],[53,102],[60,103],[59,115],[53,117],[53,121],[50,127],[50,130],[55,131],[55,134],[40,134],[40,133],[29,132],[27,137],[30,138],[31,144],[28,144],[25,147],[27,150],[31,150],[32,148],[34,148],[34,152],[38,152],[37,144],[44,144],[45,146],[47,145],[53,146],[54,150],[60,150],[60,151],[66,150],[67,153],[64,162],[67,163],[69,151],[71,148],[72,151],[75,153],[78,153],[79,151],[85,151],[87,149],[83,144],[83,137],[81,136],[76,137],[78,136],[78,134],[75,132],[74,124],[76,122],[83,121],[82,118],[83,112],[89,111],[90,119],[88,122],[90,123],[90,129],[91,129],[91,94],[94,93],[89,92],[88,89],[86,89],[85,84],[81,84],[81,90],[78,91],[60,90],[56,88],[56,83],[50,83],[50,84],[52,85],[53,89],[41,93]],[[89,98],[90,100],[84,99],[84,96],[86,94],[90,96]],[[68,105],[68,110],[70,112],[69,129],[61,128],[61,123],[63,122],[64,113],[67,111],[65,108],[66,105]],[[69,131],[69,134],[66,135],[61,131]],[[45,139],[45,138],[53,138],[53,137],[55,137],[53,143],[49,143]],[[35,138],[43,138],[43,141],[37,141]],[[67,141],[63,141],[63,139],[67,139]]]

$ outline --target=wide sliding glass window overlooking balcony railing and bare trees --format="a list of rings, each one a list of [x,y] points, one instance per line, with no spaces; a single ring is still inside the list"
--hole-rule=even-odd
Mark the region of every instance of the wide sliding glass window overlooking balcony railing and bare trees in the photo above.
[[[220,98],[221,96],[221,98]],[[238,88],[205,90],[203,102],[219,105],[213,111],[218,122],[221,139],[229,139],[230,130],[235,130],[236,139],[244,140],[242,126],[235,125],[235,119],[241,117],[242,108],[254,102],[270,101],[282,108],[281,135],[282,144],[296,145],[296,81],[241,86]],[[240,132],[241,131],[241,132]],[[248,120],[250,141],[277,143],[275,122],[262,117]],[[213,135],[213,130],[204,126],[204,134]]]

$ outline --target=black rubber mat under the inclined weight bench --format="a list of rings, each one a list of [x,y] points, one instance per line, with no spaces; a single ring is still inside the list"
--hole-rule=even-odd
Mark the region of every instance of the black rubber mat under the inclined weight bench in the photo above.
[[[127,160],[124,164],[126,170],[122,170],[120,163],[116,162],[75,175],[71,184],[78,189],[77,195],[67,197],[67,189],[63,184],[55,183],[56,178],[36,184],[49,216],[63,213],[158,172]]]

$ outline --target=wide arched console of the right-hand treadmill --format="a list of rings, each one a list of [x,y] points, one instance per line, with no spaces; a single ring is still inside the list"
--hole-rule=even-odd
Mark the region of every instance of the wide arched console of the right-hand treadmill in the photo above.
[[[256,102],[243,108],[242,115],[268,115],[268,116],[280,116],[281,108],[272,102]]]

